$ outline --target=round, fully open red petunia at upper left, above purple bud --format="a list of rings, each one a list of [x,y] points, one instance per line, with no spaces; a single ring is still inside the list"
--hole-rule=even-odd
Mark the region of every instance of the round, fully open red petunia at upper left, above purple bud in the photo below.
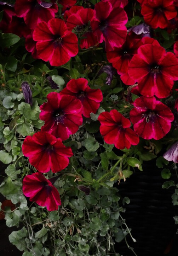
[[[68,31],[63,20],[58,18],[39,23],[34,32],[33,39],[37,41],[38,56],[50,62],[52,66],[61,66],[77,55],[79,49],[77,37]]]

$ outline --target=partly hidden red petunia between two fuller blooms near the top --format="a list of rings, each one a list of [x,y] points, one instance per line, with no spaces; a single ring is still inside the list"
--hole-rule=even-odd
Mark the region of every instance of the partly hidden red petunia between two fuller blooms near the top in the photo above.
[[[93,18],[94,10],[92,10],[91,8],[80,9],[76,12],[76,14],[72,14],[69,16],[66,25],[71,31],[73,30],[73,28],[75,28],[76,32],[82,32],[87,28],[88,22],[91,22]],[[93,34],[91,27],[87,28],[86,33],[84,33],[82,37],[86,38],[81,39],[81,49],[87,49],[90,46],[94,46],[98,42],[97,36]]]

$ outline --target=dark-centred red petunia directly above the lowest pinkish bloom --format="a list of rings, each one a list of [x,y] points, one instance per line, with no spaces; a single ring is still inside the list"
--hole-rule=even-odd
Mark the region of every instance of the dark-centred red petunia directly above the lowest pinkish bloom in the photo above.
[[[22,153],[29,157],[29,162],[40,172],[58,172],[69,164],[73,156],[70,147],[63,145],[48,132],[37,132],[32,137],[27,136],[22,144]]]

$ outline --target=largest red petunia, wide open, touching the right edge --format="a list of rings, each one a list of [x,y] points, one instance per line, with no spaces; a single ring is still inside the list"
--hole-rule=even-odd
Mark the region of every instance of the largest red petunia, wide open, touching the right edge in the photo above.
[[[134,54],[128,74],[138,82],[140,94],[165,98],[170,94],[173,80],[178,80],[178,60],[159,45],[145,44]]]

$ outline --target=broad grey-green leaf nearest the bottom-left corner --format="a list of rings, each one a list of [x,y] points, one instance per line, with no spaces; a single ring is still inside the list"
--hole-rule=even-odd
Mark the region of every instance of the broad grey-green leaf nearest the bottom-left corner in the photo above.
[[[24,237],[27,235],[27,230],[23,227],[21,230],[13,231],[8,239],[11,244],[15,245],[19,251],[24,251],[26,249]]]

